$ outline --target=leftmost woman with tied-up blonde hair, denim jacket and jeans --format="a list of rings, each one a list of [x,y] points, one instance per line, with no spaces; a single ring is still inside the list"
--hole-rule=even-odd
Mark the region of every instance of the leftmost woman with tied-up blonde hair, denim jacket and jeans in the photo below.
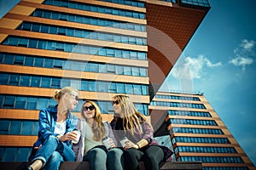
[[[62,161],[74,161],[71,140],[76,139],[73,129],[78,118],[71,111],[78,105],[79,91],[65,87],[55,90],[53,99],[55,107],[39,112],[38,140],[33,145],[29,161],[32,164],[26,169],[59,169]]]

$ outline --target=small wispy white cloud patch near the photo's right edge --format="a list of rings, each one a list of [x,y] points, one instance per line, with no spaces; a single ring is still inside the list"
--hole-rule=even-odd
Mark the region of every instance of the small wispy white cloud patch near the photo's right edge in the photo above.
[[[242,70],[245,71],[247,65],[253,64],[254,45],[255,42],[253,40],[242,40],[239,47],[234,49],[235,57],[230,59],[229,63],[235,66],[241,66]]]

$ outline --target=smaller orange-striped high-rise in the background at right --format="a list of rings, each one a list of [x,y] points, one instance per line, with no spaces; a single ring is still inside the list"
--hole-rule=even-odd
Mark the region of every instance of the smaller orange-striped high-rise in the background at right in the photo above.
[[[255,169],[203,94],[158,92],[149,111],[155,135],[170,135],[176,161],[201,161],[204,169]]]

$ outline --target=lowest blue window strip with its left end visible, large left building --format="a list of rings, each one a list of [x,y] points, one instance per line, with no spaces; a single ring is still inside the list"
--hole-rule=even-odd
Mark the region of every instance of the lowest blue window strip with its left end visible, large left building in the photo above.
[[[18,46],[23,48],[38,48],[50,51],[63,51],[73,54],[91,54],[125,59],[147,59],[146,53],[139,51],[131,51],[117,48],[102,48],[97,46],[90,46],[71,42],[57,42],[28,37],[9,36],[3,41],[2,44],[9,46]]]

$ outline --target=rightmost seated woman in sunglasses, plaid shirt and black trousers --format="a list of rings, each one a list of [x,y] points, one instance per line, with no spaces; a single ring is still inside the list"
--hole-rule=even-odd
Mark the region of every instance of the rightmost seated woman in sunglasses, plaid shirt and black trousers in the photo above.
[[[114,118],[110,124],[115,138],[123,145],[125,169],[139,169],[139,161],[144,161],[147,170],[160,169],[160,162],[165,156],[171,156],[172,151],[163,150],[158,145],[146,116],[137,111],[126,95],[113,97],[113,111]],[[125,142],[122,141],[124,138]]]

